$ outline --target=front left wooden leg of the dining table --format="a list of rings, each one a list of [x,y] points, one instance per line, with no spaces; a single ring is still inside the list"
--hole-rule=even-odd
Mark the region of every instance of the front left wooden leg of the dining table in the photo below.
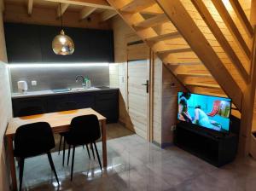
[[[7,136],[8,141],[8,152],[9,152],[9,165],[10,165],[10,172],[12,178],[12,186],[13,190],[17,190],[17,179],[16,179],[16,170],[15,170],[15,155],[14,155],[14,145],[13,145],[13,137]]]

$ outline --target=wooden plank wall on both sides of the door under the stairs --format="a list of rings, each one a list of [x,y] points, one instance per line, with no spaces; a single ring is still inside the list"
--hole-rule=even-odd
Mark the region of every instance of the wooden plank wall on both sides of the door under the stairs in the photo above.
[[[113,18],[113,34],[115,63],[119,66],[119,121],[124,123],[127,128],[132,129],[131,121],[126,110],[127,104],[127,42],[140,40],[129,26],[123,20],[116,16]],[[140,58],[145,52],[143,44],[138,44],[129,49],[130,53],[134,52],[134,56]],[[136,54],[136,52],[140,54]],[[172,87],[172,84],[174,86]],[[171,127],[177,122],[177,90],[181,90],[176,78],[163,65],[160,59],[154,59],[154,112],[153,112],[153,141],[165,147],[172,142]]]

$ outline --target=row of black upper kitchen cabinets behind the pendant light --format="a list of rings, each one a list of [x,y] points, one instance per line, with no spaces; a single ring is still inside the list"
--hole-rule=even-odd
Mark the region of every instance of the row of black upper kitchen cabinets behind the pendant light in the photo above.
[[[5,23],[4,27],[10,63],[113,62],[112,31],[65,27],[75,51],[73,55],[55,55],[51,43],[61,27],[12,23]]]

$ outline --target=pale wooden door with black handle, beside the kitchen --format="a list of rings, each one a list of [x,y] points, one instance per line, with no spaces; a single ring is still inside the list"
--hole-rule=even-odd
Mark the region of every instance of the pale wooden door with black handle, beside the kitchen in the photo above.
[[[149,49],[144,44],[128,48],[128,114],[137,135],[149,140]]]

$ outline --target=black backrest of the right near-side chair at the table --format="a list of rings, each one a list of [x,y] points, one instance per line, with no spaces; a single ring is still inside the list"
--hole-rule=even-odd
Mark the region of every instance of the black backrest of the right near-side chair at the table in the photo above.
[[[83,115],[72,119],[70,143],[75,145],[86,144],[95,142],[100,137],[101,130],[96,115]]]

